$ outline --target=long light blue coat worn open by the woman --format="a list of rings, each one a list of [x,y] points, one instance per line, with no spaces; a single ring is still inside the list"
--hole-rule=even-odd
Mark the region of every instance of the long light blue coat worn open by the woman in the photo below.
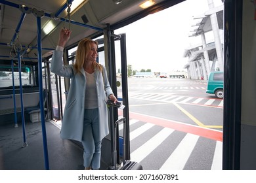
[[[58,76],[71,78],[70,90],[62,119],[60,137],[62,139],[73,139],[80,141],[83,136],[83,115],[85,108],[86,77],[85,71],[75,73],[73,65],[63,67],[63,52],[54,50],[51,61],[51,71]],[[98,69],[95,70],[96,91],[98,95],[98,114],[100,139],[109,133],[108,129],[108,108],[106,106],[106,96],[112,94],[112,89],[108,82],[106,68],[103,67],[103,75]],[[104,81],[103,81],[104,80]]]

